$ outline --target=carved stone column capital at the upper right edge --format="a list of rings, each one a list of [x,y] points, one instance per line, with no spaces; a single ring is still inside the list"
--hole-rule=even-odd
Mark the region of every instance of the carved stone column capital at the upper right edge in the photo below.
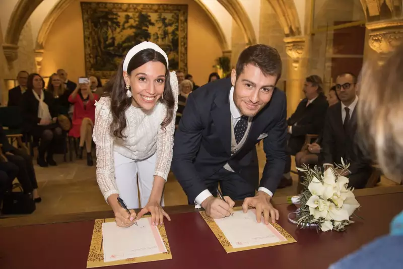
[[[370,30],[369,46],[378,53],[381,65],[403,41],[403,18],[371,22],[366,27]]]

